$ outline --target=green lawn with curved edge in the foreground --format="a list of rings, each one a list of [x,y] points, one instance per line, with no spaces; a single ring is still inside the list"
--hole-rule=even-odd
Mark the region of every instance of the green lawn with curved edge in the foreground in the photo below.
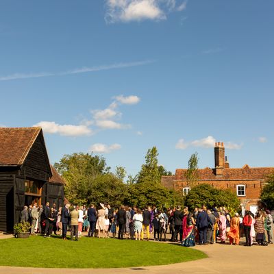
[[[180,245],[136,240],[31,236],[0,240],[1,266],[99,269],[174,264],[206,258]]]

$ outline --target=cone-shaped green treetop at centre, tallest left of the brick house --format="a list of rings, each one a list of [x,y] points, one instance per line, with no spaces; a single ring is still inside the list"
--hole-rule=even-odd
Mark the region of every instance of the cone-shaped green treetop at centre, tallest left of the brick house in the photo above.
[[[151,182],[160,183],[160,173],[158,170],[158,151],[156,147],[152,147],[147,151],[145,156],[145,164],[142,164],[142,168],[138,175],[138,183]]]

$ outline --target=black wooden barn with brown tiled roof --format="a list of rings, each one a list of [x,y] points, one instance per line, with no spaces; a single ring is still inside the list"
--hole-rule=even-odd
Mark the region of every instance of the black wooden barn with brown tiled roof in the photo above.
[[[49,163],[41,127],[0,128],[0,231],[12,231],[23,206],[63,206],[64,181]]]

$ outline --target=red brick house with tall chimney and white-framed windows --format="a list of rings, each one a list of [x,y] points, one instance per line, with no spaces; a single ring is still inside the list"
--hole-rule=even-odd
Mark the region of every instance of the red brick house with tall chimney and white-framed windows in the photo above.
[[[215,167],[198,170],[197,184],[210,184],[216,188],[231,189],[240,199],[242,210],[256,212],[260,205],[260,193],[266,175],[274,172],[274,167],[251,168],[245,164],[240,169],[230,169],[225,157],[223,142],[216,142],[214,147]],[[162,184],[167,188],[182,191],[187,195],[190,190],[186,179],[187,169],[176,169],[175,176],[162,176]]]

